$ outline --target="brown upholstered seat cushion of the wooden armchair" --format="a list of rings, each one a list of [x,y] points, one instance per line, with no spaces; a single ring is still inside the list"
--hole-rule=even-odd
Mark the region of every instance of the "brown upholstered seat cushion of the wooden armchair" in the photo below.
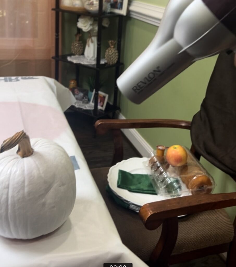
[[[110,198],[105,190],[108,171],[109,167],[91,170],[123,244],[147,261],[161,235],[161,226],[154,231],[147,230],[138,213],[119,206]],[[172,255],[229,243],[233,236],[233,224],[223,209],[188,215],[179,219],[178,238]]]

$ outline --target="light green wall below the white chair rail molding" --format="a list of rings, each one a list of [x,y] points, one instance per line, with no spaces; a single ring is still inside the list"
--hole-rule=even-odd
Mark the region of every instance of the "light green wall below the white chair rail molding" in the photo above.
[[[153,39],[157,29],[156,26],[137,19],[125,18],[122,50],[125,68],[143,52]],[[200,109],[216,59],[217,56],[214,56],[194,63],[140,105],[133,104],[121,96],[121,113],[127,119],[165,118],[191,120],[193,115]],[[153,148],[159,144],[165,146],[182,144],[187,147],[191,145],[189,131],[187,130],[141,129],[138,132]],[[229,176],[216,169],[205,159],[202,159],[201,162],[217,183],[214,193],[236,191],[236,184]],[[234,219],[235,207],[228,208],[227,211],[230,217]]]

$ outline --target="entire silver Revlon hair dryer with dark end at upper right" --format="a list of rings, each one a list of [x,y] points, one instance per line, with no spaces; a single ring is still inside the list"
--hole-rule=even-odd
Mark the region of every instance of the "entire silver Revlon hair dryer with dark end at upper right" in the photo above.
[[[235,47],[235,0],[170,0],[153,41],[117,86],[140,104],[195,61]]]

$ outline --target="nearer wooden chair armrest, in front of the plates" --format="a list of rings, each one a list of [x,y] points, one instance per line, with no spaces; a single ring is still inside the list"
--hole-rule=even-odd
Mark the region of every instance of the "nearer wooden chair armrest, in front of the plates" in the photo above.
[[[139,216],[145,227],[153,230],[167,218],[231,206],[236,206],[236,192],[191,195],[147,203],[139,210]]]

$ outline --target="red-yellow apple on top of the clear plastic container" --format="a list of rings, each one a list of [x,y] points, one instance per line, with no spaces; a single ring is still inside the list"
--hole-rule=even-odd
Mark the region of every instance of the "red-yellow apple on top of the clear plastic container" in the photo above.
[[[171,166],[183,166],[187,162],[187,152],[185,148],[180,145],[174,145],[166,151],[166,161]]]

